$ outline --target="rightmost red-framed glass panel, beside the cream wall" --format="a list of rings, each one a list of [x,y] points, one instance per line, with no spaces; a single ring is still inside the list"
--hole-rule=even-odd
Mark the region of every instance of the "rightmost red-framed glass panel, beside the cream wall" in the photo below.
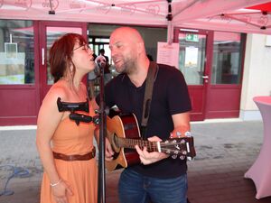
[[[206,118],[239,116],[246,34],[214,32]]]

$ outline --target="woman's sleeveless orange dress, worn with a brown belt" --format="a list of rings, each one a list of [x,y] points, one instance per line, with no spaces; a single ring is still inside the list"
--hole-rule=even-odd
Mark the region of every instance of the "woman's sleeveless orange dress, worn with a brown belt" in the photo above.
[[[52,151],[66,155],[90,152],[94,147],[94,128],[93,123],[80,122],[76,125],[68,116],[61,121],[52,137]],[[69,203],[97,203],[98,168],[95,158],[89,161],[54,159],[54,162],[61,180],[65,180],[73,192],[72,196],[68,195]],[[46,172],[42,177],[41,203],[56,203]]]

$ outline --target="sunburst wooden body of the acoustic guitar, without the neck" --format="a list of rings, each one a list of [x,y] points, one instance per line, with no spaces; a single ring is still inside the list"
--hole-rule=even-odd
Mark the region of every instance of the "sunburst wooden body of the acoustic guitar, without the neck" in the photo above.
[[[110,118],[107,116],[107,139],[115,152],[113,161],[106,161],[108,171],[139,163],[137,152],[133,149],[119,147],[116,138],[140,139],[140,132],[134,114],[119,114]]]

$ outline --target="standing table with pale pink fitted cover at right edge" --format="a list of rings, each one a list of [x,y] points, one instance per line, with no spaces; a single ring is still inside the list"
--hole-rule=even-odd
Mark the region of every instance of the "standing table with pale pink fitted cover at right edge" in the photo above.
[[[245,173],[245,178],[254,181],[259,199],[271,196],[271,97],[254,97],[253,101],[262,115],[264,139],[257,160]]]

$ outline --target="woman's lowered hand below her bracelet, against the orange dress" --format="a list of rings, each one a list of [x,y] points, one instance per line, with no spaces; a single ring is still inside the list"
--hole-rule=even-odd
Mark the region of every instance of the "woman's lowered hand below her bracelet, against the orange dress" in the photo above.
[[[51,191],[56,203],[69,203],[68,195],[73,195],[70,185],[64,180],[61,180],[60,184],[51,187]]]

